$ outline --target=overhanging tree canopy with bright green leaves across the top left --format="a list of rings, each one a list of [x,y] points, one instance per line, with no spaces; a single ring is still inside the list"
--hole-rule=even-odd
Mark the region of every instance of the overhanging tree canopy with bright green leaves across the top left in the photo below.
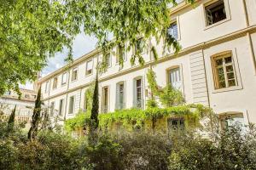
[[[67,60],[72,60],[72,42],[81,27],[98,39],[105,58],[114,46],[125,47],[127,42],[125,50],[129,50],[138,36],[143,41],[163,37],[177,51],[177,41],[166,33],[171,22],[169,3],[176,4],[176,0],[1,0],[0,95],[7,89],[19,91],[19,83],[34,80],[47,59],[63,47],[69,49]],[[109,34],[114,41],[109,42]],[[131,62],[136,59],[144,63],[140,53]]]

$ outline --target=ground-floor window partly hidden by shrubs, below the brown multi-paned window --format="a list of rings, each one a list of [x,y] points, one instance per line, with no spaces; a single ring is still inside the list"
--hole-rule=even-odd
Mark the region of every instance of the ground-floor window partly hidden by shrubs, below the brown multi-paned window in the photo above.
[[[245,124],[242,113],[229,112],[219,116],[220,125],[222,129],[228,127],[240,127],[241,131],[245,131]]]

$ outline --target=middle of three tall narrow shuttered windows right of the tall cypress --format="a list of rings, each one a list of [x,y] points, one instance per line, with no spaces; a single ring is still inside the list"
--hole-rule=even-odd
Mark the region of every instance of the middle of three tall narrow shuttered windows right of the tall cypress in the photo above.
[[[116,109],[125,109],[125,84],[124,82],[119,82],[116,85]]]

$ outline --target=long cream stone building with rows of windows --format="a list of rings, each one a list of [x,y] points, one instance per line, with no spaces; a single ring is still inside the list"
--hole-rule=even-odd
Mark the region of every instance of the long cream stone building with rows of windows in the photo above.
[[[135,50],[131,49],[124,53],[120,70],[118,49],[113,48],[108,71],[99,77],[100,111],[145,108],[146,73],[152,67],[158,84],[172,83],[187,103],[208,105],[220,117],[230,115],[244,125],[256,122],[256,0],[199,0],[193,6],[181,1],[171,11],[168,31],[182,50],[176,55],[152,38],[148,48],[141,49],[145,65],[131,65]],[[157,61],[149,50],[152,45],[160,56]],[[86,110],[84,93],[95,80],[101,58],[101,51],[95,49],[40,78],[44,104],[63,119]]]

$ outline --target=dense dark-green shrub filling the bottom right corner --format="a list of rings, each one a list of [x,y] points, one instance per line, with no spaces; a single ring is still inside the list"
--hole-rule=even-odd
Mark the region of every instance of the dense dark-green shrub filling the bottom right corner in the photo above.
[[[218,133],[217,139],[185,133],[172,138],[169,169],[253,169],[256,166],[255,131],[241,134],[239,127]]]

